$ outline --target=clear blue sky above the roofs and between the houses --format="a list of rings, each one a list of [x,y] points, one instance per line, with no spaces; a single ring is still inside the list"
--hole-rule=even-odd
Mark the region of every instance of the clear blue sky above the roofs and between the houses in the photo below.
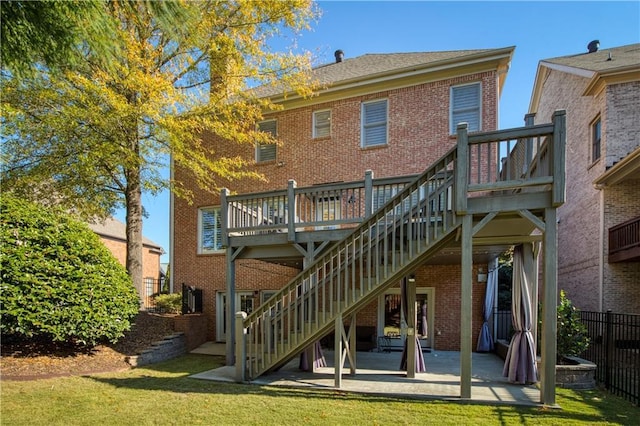
[[[519,127],[538,62],[640,42],[640,1],[320,1],[320,19],[297,40],[314,64],[366,53],[430,52],[515,46],[500,98],[500,128]],[[288,40],[290,41],[290,40]],[[283,44],[284,46],[284,44]],[[295,178],[295,176],[292,176]],[[143,196],[147,238],[169,251],[169,196]],[[124,219],[124,212],[116,215]],[[168,262],[168,253],[162,262]]]

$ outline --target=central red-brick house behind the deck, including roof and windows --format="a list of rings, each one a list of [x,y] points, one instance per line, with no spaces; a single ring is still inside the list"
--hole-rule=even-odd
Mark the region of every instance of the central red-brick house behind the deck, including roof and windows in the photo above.
[[[204,140],[219,155],[254,160],[251,170],[265,181],[224,182],[235,193],[298,187],[328,182],[363,180],[367,170],[375,178],[417,174],[456,143],[456,123],[467,121],[470,131],[496,130],[498,101],[514,48],[426,53],[369,54],[317,67],[313,75],[325,88],[317,96],[274,99],[283,110],[256,123],[273,132],[281,145],[252,147]],[[551,114],[545,118],[549,120]],[[227,259],[220,235],[219,196],[197,190],[179,168],[178,181],[194,190],[193,203],[176,199],[172,218],[174,282],[203,290],[208,339],[225,341]],[[330,202],[325,200],[324,202]],[[330,207],[326,216],[335,214]],[[326,218],[326,217],[325,217]],[[277,257],[274,248],[274,257]],[[486,273],[488,257],[478,258],[473,276]],[[302,268],[297,261],[276,263],[238,259],[235,266],[236,310],[251,312]],[[418,300],[429,307],[429,339],[441,350],[460,349],[460,264],[451,259],[432,262],[416,273]],[[482,318],[486,284],[473,286],[474,347]],[[389,326],[386,306],[393,305],[393,289],[358,313],[358,325],[373,335]],[[427,337],[427,336],[423,336]]]

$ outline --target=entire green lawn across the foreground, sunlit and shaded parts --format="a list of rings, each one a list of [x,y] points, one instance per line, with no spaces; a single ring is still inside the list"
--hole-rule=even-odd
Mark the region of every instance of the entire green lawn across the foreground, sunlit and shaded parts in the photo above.
[[[191,379],[223,358],[187,355],[123,373],[3,381],[3,425],[575,425],[640,422],[599,390],[557,390],[562,409],[402,400]]]

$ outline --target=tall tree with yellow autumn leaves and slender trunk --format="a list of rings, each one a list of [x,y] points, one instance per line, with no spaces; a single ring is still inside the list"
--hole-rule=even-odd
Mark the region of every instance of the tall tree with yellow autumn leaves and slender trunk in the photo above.
[[[151,3],[108,3],[120,52],[108,66],[88,48],[71,69],[2,81],[5,188],[88,217],[124,206],[126,267],[138,289],[142,192],[170,187],[190,195],[162,178],[169,155],[212,192],[220,177],[260,177],[200,135],[274,142],[255,122],[276,105],[248,85],[311,93],[308,55],[273,52],[268,42],[306,28],[315,13],[309,0],[179,2],[182,24],[170,26],[154,17]]]

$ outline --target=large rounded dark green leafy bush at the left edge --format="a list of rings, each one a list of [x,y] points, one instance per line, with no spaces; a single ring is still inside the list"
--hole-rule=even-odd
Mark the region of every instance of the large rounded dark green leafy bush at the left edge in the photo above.
[[[7,194],[0,213],[3,338],[93,346],[130,328],[131,279],[86,224]]]

